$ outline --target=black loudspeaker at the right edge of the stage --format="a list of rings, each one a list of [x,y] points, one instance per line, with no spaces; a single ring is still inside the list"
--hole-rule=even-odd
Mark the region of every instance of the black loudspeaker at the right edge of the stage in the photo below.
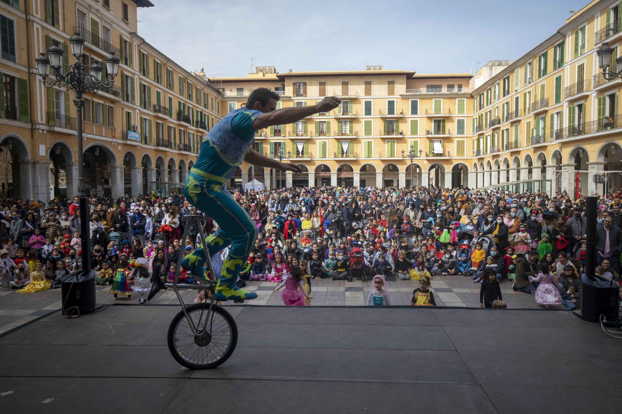
[[[618,282],[611,283],[611,279],[586,274],[581,275],[581,282],[581,310],[575,311],[575,315],[588,322],[600,321],[600,315],[605,315],[605,320],[618,316]]]

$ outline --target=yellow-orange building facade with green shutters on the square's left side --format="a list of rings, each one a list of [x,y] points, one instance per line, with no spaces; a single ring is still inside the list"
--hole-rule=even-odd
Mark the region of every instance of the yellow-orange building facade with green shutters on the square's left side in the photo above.
[[[185,182],[200,143],[220,120],[221,96],[136,34],[137,7],[151,6],[148,0],[0,1],[0,198],[77,193],[73,91],[45,89],[34,61],[58,44],[67,72],[75,62],[69,53],[75,33],[85,39],[87,70],[111,53],[121,58],[114,86],[85,94],[88,195],[114,199]]]

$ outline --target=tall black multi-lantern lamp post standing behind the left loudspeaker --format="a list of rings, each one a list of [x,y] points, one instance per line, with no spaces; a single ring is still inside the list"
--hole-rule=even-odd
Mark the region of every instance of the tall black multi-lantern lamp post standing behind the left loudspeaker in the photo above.
[[[72,90],[75,94],[73,104],[76,107],[77,129],[78,129],[78,197],[80,198],[80,238],[82,239],[82,265],[84,270],[91,270],[90,237],[89,237],[89,218],[88,201],[86,200],[86,188],[84,185],[84,154],[82,149],[82,95],[85,92],[97,93],[101,88],[109,88],[114,85],[114,76],[119,70],[120,59],[112,53],[106,60],[106,79],[102,80],[103,70],[100,65],[93,63],[88,67],[80,62],[84,48],[84,39],[79,33],[70,37],[69,43],[72,48],[72,55],[76,61],[71,65],[67,73],[62,73],[63,50],[57,43],[47,49],[45,53],[35,59],[37,70],[42,78],[45,88],[58,86],[66,90]],[[52,67],[55,79],[47,80],[50,67]]]

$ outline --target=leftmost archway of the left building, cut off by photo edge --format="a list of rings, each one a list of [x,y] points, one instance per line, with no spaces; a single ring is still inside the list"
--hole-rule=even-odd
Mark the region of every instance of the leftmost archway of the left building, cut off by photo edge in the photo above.
[[[30,159],[30,152],[21,138],[6,134],[0,139],[0,196],[7,197],[29,196],[29,173],[23,160]]]

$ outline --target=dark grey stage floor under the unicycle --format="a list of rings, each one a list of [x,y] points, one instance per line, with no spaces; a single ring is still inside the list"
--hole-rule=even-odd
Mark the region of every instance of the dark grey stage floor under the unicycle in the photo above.
[[[622,342],[568,311],[228,306],[213,370],[166,345],[177,306],[60,312],[0,338],[2,413],[620,413]]]

